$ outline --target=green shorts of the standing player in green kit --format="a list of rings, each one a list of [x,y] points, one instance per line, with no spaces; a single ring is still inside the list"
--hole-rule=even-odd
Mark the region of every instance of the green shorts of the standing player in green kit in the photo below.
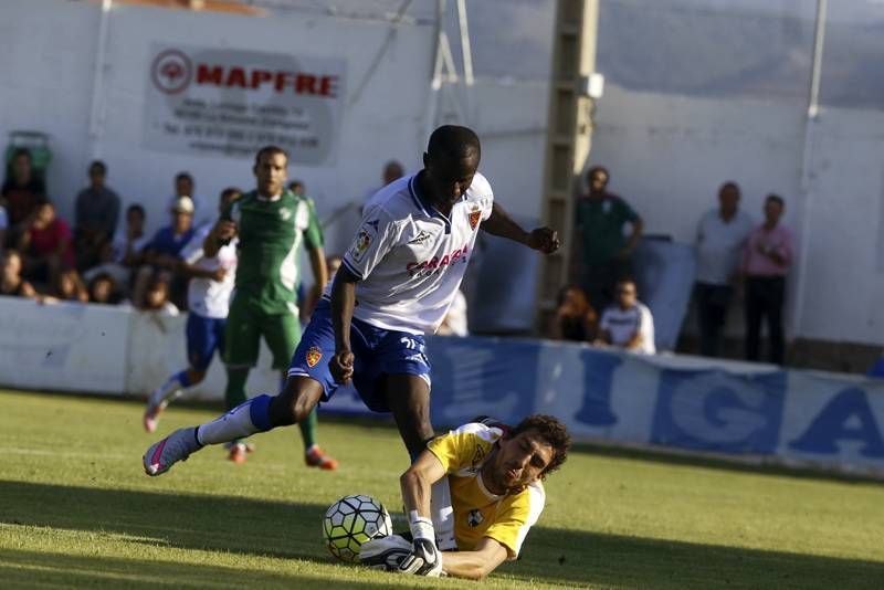
[[[230,306],[224,331],[224,362],[229,367],[254,367],[261,337],[273,354],[273,368],[286,369],[301,341],[301,322],[294,314],[266,314],[248,302]]]

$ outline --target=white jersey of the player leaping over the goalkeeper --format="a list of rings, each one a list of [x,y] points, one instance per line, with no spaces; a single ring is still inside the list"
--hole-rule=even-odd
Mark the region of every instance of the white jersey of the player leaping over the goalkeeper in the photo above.
[[[360,278],[354,317],[382,329],[432,334],[461,286],[494,194],[476,173],[446,218],[421,199],[415,179],[400,178],[372,197],[343,264]]]

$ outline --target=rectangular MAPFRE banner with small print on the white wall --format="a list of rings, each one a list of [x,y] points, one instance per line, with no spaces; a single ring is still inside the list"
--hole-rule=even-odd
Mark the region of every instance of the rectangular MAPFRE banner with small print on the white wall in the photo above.
[[[146,67],[147,148],[253,158],[273,144],[292,161],[334,162],[344,60],[155,44]]]

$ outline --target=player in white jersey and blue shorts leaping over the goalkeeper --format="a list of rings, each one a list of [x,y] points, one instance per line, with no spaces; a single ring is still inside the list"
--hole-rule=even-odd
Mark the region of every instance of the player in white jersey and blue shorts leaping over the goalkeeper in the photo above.
[[[257,396],[217,420],[180,429],[151,445],[143,463],[160,475],[207,444],[303,420],[352,380],[371,410],[391,412],[415,459],[433,438],[430,362],[423,335],[442,323],[478,234],[508,238],[544,253],[559,247],[549,228],[526,232],[494,201],[480,175],[471,129],[445,125],[430,136],[423,170],[379,191],[356,240],[314,312],[280,394]],[[411,523],[411,572],[438,568],[432,524]]]

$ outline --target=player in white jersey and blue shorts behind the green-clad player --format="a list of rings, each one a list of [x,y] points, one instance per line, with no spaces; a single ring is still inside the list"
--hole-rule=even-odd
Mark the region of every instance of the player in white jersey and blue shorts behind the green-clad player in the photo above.
[[[240,194],[239,189],[224,189],[219,208],[223,211]],[[224,350],[224,325],[236,276],[236,244],[233,240],[217,255],[207,257],[202,242],[211,229],[211,223],[198,229],[181,251],[181,271],[191,277],[187,289],[190,313],[185,328],[188,368],[169,376],[148,398],[144,415],[147,432],[157,430],[159,414],[169,402],[181,396],[185,389],[200,383],[215,351]]]

